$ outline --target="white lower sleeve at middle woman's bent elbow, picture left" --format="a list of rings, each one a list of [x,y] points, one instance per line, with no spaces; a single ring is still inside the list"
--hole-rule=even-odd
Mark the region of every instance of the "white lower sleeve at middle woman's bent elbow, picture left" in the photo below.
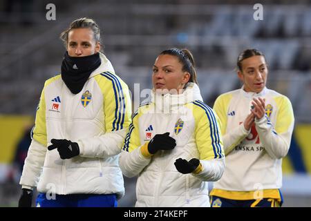
[[[144,167],[151,162],[151,157],[144,157],[140,148],[135,148],[131,153],[122,151],[120,154],[120,168],[126,177],[134,177],[140,174]]]

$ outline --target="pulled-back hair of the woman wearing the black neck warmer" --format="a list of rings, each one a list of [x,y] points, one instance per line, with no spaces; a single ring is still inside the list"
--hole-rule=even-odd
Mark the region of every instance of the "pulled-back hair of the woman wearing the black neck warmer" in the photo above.
[[[93,19],[81,18],[71,22],[69,28],[60,34],[59,38],[64,41],[65,48],[67,48],[68,44],[68,32],[75,28],[91,28],[91,30],[93,30],[93,38],[95,42],[100,42],[100,27],[97,23]]]

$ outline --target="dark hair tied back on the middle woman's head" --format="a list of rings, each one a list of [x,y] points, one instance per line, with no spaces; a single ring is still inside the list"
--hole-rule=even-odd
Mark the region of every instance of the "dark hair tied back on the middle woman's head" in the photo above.
[[[178,61],[182,64],[182,71],[190,73],[189,82],[198,84],[196,69],[194,68],[194,56],[188,49],[170,48],[168,50],[163,50],[160,55],[173,55],[178,57]]]

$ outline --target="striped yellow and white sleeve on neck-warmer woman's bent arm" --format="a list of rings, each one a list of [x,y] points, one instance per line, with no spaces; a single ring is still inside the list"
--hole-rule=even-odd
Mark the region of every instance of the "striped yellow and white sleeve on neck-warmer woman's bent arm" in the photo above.
[[[81,157],[111,157],[121,152],[126,131],[131,124],[131,99],[128,86],[113,73],[98,77],[102,90],[105,133],[78,141]]]

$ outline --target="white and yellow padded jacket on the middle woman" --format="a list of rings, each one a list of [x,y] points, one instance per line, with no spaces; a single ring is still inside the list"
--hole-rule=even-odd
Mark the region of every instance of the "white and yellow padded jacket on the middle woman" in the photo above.
[[[225,167],[218,117],[202,102],[200,90],[189,83],[180,95],[151,94],[133,116],[120,155],[126,177],[138,175],[135,206],[209,206],[208,183],[220,179]],[[147,144],[169,132],[176,140],[171,151],[150,155]],[[191,174],[176,170],[179,157],[196,157],[202,167]]]

